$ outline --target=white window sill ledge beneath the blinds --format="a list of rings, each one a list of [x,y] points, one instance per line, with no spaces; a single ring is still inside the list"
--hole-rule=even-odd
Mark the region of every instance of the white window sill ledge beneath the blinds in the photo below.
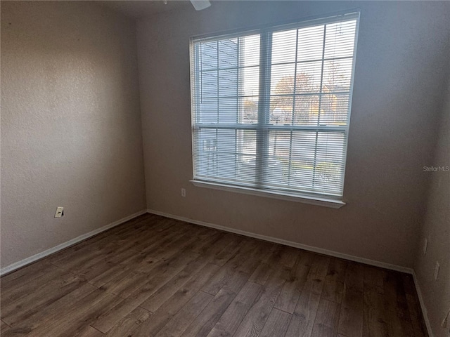
[[[199,180],[190,180],[190,181],[191,181],[191,183],[193,183],[193,185],[195,185],[197,187],[212,188],[214,190],[237,192],[237,193],[243,193],[243,194],[256,195],[258,197],[268,197],[268,198],[281,199],[281,200],[287,200],[287,201],[295,201],[295,202],[301,202],[303,204],[330,207],[332,209],[340,209],[342,206],[345,206],[344,201],[336,200],[336,199],[311,197],[308,195],[298,196],[295,194],[282,194],[282,193],[271,192],[271,191],[269,192],[269,191],[256,190],[256,189],[250,188],[250,187],[237,187],[237,186],[230,186],[230,185],[224,185],[224,184],[219,184],[219,183],[207,183],[207,182],[199,181]]]

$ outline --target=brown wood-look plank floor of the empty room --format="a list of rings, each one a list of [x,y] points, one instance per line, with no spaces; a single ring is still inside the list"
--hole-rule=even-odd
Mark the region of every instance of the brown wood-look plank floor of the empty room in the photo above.
[[[428,336],[411,275],[149,214],[0,281],[1,337]]]

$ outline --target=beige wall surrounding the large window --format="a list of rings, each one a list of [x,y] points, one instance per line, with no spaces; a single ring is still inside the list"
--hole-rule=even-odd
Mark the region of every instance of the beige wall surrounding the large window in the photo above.
[[[361,8],[342,209],[194,187],[189,37]],[[139,20],[149,209],[413,267],[449,55],[450,3],[216,1]],[[182,198],[181,187],[187,196]]]

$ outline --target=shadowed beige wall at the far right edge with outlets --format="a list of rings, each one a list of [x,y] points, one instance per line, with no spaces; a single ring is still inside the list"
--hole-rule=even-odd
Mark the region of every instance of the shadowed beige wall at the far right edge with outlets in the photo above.
[[[450,166],[450,78],[435,157],[428,166]],[[446,331],[450,331],[450,317],[446,329],[440,324],[450,310],[450,172],[436,171],[427,174],[432,178],[428,191],[425,224],[420,236],[414,269],[435,337],[447,337]],[[425,238],[428,239],[426,255],[423,254]],[[436,261],[440,265],[437,281],[433,277]]]

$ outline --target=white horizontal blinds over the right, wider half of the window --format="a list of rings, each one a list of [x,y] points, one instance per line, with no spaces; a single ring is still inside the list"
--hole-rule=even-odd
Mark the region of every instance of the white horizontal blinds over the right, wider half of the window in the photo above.
[[[342,196],[356,19],[272,34],[268,188]]]

